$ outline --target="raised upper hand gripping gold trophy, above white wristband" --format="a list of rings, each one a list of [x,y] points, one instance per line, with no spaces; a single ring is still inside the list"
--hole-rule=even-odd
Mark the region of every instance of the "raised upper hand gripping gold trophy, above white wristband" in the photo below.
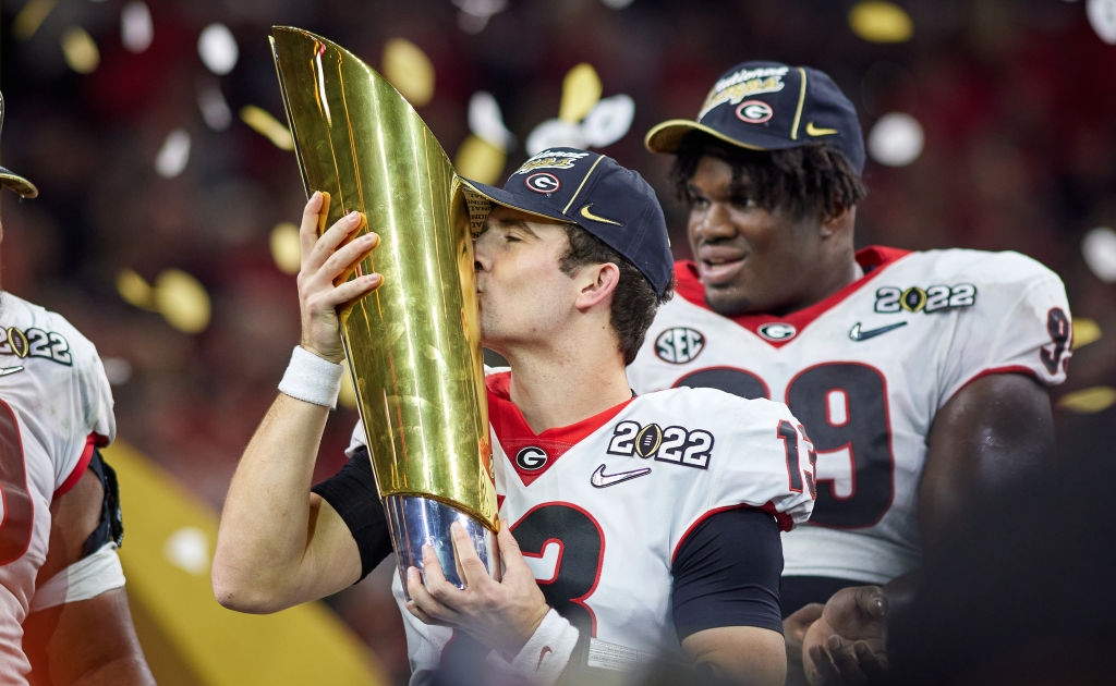
[[[360,260],[379,244],[372,232],[358,234],[364,215],[349,212],[328,229],[329,194],[315,191],[302,211],[299,228],[302,262],[298,272],[298,301],[302,312],[300,345],[333,363],[345,359],[340,312],[379,287],[378,273],[349,276]]]

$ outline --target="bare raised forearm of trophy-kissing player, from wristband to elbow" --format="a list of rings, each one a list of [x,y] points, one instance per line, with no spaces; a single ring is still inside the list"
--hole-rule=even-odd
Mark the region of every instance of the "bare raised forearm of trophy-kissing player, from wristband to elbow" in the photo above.
[[[311,571],[310,484],[327,407],[280,394],[241,456],[213,555],[213,591],[225,607],[268,612],[295,605]]]

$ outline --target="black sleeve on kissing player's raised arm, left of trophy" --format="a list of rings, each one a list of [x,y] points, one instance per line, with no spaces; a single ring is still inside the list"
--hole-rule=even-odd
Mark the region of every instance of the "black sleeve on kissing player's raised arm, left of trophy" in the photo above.
[[[348,525],[360,550],[360,579],[364,579],[393,552],[368,448],[359,448],[345,466],[311,491],[329,503]]]

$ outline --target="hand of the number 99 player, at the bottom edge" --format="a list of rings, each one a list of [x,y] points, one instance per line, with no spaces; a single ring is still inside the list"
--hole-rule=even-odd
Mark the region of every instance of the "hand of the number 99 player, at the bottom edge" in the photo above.
[[[878,586],[843,588],[802,639],[810,686],[878,683],[887,674],[887,599]]]

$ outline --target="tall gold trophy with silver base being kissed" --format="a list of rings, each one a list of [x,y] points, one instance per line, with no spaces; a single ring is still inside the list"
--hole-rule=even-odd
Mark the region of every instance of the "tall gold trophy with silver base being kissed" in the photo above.
[[[375,70],[301,29],[272,27],[270,40],[307,194],[329,193],[327,225],[357,210],[362,233],[381,236],[357,273],[383,286],[341,315],[341,340],[404,591],[427,542],[463,587],[454,521],[499,578],[472,244],[487,207],[470,207],[442,146]]]

